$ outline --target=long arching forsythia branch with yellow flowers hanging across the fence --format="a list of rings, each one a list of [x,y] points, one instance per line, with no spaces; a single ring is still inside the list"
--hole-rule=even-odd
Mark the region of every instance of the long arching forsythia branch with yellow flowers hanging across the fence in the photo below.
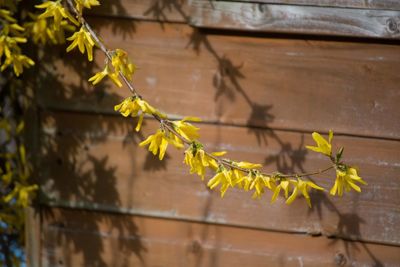
[[[165,114],[157,111],[143,100],[134,85],[130,82],[135,66],[128,60],[127,53],[121,49],[113,51],[108,50],[96,32],[84,19],[82,15],[82,5],[80,9],[77,8],[77,6],[79,6],[79,1],[75,1],[75,3],[72,0],[66,1],[77,20],[82,24],[81,29],[86,30],[87,33],[91,35],[95,44],[107,57],[105,69],[90,78],[89,81],[92,81],[93,84],[97,84],[108,75],[116,85],[121,87],[121,83],[116,77],[116,74],[118,74],[118,77],[126,84],[133,96],[126,98],[121,104],[115,106],[115,109],[125,117],[139,116],[139,122],[136,126],[137,131],[140,130],[144,114],[153,116],[159,121],[160,129],[157,130],[155,134],[150,135],[140,146],[149,145],[148,149],[154,155],[158,154],[160,160],[163,159],[169,144],[178,149],[186,145],[187,149],[185,151],[184,163],[190,167],[190,172],[196,173],[204,179],[206,169],[213,170],[215,176],[209,180],[207,185],[211,189],[220,185],[221,196],[224,196],[229,188],[238,187],[245,191],[254,190],[253,198],[260,198],[265,191],[264,189],[267,188],[273,192],[271,202],[276,200],[282,190],[287,199],[287,204],[292,203],[298,195],[303,195],[310,207],[311,201],[308,191],[311,188],[322,191],[325,189],[311,181],[304,181],[302,179],[303,177],[319,175],[331,169],[335,169],[336,180],[330,193],[332,195],[337,193],[339,196],[343,194],[343,190],[350,191],[350,189],[354,189],[360,192],[361,189],[356,185],[356,182],[366,184],[361,177],[358,176],[355,168],[347,166],[341,161],[343,149],[340,149],[335,156],[332,156],[332,131],[329,132],[328,140],[325,140],[320,134],[314,132],[313,139],[316,142],[316,146],[307,146],[308,149],[327,156],[332,164],[325,169],[309,173],[263,173],[259,171],[259,168],[262,167],[260,164],[236,162],[227,158],[222,158],[226,152],[207,152],[203,145],[197,141],[199,137],[197,131],[199,128],[189,123],[189,121],[199,121],[199,119],[185,118],[180,121],[171,121]],[[115,71],[114,73],[110,71],[109,62],[111,62]]]

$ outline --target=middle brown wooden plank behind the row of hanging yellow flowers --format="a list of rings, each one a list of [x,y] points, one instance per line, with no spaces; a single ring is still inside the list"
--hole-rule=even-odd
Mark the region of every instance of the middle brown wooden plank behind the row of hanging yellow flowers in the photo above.
[[[335,137],[335,146],[346,147],[346,161],[360,167],[369,185],[342,199],[313,194],[309,209],[303,199],[271,205],[269,192],[256,201],[234,189],[220,199],[189,175],[182,151],[171,148],[159,162],[136,145],[158,127],[154,120],[145,121],[143,136],[133,133],[131,120],[112,116],[50,113],[43,122],[38,169],[46,204],[400,244],[400,142]],[[211,151],[266,163],[267,171],[310,171],[328,164],[305,151],[304,145],[312,144],[309,135],[259,129],[260,143],[251,129],[200,126]],[[329,188],[334,173],[316,179]]]

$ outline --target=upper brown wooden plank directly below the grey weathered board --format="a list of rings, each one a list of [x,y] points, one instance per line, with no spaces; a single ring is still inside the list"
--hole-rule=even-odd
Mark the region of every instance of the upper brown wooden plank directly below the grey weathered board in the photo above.
[[[136,87],[172,116],[400,140],[398,45],[208,35],[149,22],[131,38],[103,26],[111,21],[96,24],[101,36],[130,53],[139,66]],[[84,68],[78,53],[46,55],[57,70],[41,74],[43,108],[114,113],[128,95],[110,83],[89,86],[88,77],[102,68],[100,53]]]

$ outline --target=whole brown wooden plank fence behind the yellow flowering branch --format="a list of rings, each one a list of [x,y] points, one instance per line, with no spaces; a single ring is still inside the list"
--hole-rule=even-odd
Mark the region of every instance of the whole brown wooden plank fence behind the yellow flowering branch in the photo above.
[[[210,150],[302,172],[326,164],[304,148],[310,133],[332,129],[368,186],[314,192],[311,209],[268,193],[220,199],[182,151],[160,162],[137,146],[158,124],[134,132],[113,111],[128,90],[89,85],[100,51],[92,64],[45,49],[31,266],[400,266],[398,1],[102,2],[88,20],[139,66],[143,97],[172,118],[202,118]]]

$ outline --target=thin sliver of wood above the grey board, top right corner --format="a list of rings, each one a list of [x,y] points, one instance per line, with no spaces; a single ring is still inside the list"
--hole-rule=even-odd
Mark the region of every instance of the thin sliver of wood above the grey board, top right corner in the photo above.
[[[218,1],[218,0],[217,0]],[[400,10],[397,0],[233,0],[234,2],[251,2],[263,4],[305,5],[323,7],[365,8]]]

